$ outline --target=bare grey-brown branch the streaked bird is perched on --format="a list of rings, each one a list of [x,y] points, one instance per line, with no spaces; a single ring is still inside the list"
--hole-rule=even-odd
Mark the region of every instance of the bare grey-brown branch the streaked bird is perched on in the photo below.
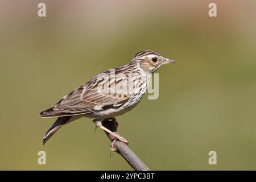
[[[102,122],[102,125],[109,129],[110,131],[113,131],[115,134],[119,135],[117,132],[117,129],[115,128],[115,124],[112,119],[105,119]],[[106,132],[105,132],[106,133]],[[109,137],[111,141],[114,140],[114,137],[108,133],[106,135]],[[125,143],[116,141],[114,143],[114,147],[117,148],[116,152],[120,154],[127,163],[130,164],[130,166],[136,170],[136,171],[151,171],[150,168],[144,164],[141,159],[138,158],[138,156],[131,150],[129,146],[127,146]]]

